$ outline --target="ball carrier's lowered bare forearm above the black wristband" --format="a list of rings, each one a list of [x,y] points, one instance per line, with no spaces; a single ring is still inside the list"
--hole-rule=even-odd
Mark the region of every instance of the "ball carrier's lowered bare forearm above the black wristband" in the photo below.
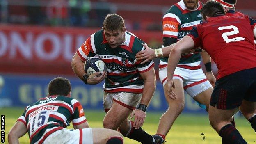
[[[155,75],[152,75],[148,79],[144,81],[144,88],[142,92],[142,99],[140,101],[140,104],[149,106],[149,103],[151,101],[151,98],[153,97],[153,94],[155,92]]]

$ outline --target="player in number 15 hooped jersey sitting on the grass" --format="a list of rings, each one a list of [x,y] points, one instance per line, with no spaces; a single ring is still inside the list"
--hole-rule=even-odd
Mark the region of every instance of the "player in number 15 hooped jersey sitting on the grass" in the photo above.
[[[9,144],[28,132],[30,144],[123,144],[121,133],[105,128],[89,128],[82,105],[71,98],[71,84],[55,78],[49,95],[26,107],[8,134]],[[66,129],[72,121],[75,130]]]

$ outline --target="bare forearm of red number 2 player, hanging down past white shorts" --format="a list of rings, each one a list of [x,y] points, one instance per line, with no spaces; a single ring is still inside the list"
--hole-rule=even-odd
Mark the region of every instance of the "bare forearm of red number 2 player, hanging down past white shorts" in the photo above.
[[[167,80],[171,80],[173,78],[174,71],[178,65],[180,58],[181,50],[178,50],[177,48],[171,50],[167,64]]]

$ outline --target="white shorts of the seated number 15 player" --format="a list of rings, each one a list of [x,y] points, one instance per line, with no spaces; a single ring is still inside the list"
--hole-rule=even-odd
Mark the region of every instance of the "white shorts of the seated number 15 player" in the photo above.
[[[93,144],[91,128],[70,130],[63,128],[50,134],[43,144]]]

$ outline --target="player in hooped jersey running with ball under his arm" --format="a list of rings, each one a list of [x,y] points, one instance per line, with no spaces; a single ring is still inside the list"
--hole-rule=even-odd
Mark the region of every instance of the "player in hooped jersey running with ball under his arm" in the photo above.
[[[151,136],[141,128],[156,83],[153,61],[140,64],[141,61],[135,59],[135,54],[144,50],[142,43],[144,41],[126,31],[121,16],[108,14],[102,30],[92,34],[75,53],[72,68],[85,84],[97,84],[107,75],[103,86],[103,105],[107,112],[104,128],[120,130],[125,137],[143,144],[161,144],[162,137]],[[108,73],[87,77],[84,63],[95,55],[105,62]],[[128,120],[130,114],[135,116],[134,122]]]

